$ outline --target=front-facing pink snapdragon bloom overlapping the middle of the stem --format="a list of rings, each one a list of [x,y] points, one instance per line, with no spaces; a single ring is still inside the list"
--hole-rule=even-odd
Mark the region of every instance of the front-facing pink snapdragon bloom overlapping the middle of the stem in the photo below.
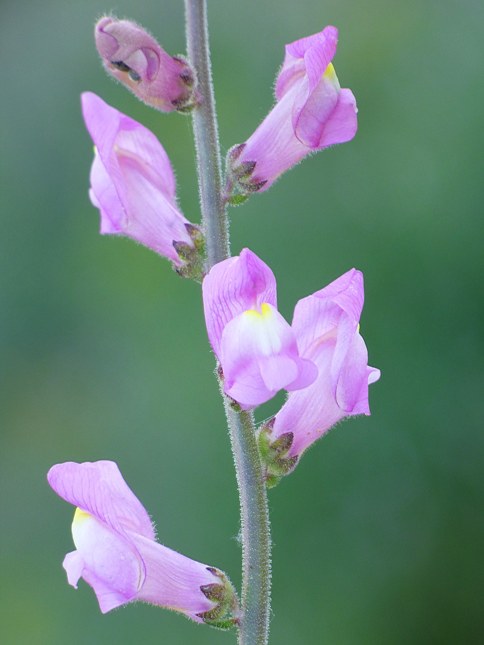
[[[316,379],[316,366],[299,356],[296,336],[277,311],[274,274],[248,248],[205,276],[203,307],[224,392],[242,408]]]

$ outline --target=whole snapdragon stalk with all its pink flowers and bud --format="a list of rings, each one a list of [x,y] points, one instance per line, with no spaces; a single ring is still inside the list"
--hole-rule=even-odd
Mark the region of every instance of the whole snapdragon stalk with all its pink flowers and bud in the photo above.
[[[368,366],[360,333],[363,275],[351,269],[299,300],[289,324],[277,310],[276,279],[255,253],[230,256],[228,204],[267,190],[303,157],[354,137],[356,100],[332,65],[338,31],[286,46],[276,104],[245,143],[230,148],[221,173],[205,0],[185,0],[188,55],[170,56],[143,28],[112,16],[96,24],[96,46],[110,75],[162,112],[193,117],[201,223],[176,198],[165,149],[141,123],[85,92],[83,117],[94,142],[90,200],[101,233],[126,235],[202,282],[208,340],[227,415],[241,502],[241,606],[223,571],[156,541],[141,502],[112,461],[66,462],[50,486],[74,504],[76,550],[63,566],[83,578],[105,613],[146,600],[217,628],[237,626],[239,645],[267,645],[270,526],[267,488],[294,470],[312,442],[344,417],[369,415]],[[281,410],[256,428],[254,408],[279,390]]]

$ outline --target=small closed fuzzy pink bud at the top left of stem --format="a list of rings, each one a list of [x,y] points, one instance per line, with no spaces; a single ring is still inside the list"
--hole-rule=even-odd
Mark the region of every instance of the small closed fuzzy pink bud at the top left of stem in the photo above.
[[[166,54],[139,25],[105,16],[97,22],[94,36],[106,70],[141,101],[163,112],[185,112],[197,103],[190,65]]]

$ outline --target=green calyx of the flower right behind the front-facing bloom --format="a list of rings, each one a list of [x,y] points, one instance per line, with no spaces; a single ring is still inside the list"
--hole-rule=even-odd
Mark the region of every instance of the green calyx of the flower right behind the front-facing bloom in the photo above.
[[[257,437],[267,488],[276,486],[283,475],[287,475],[294,469],[299,459],[299,455],[287,457],[294,441],[294,433],[286,432],[271,441],[274,421],[275,419],[270,419],[266,422]]]

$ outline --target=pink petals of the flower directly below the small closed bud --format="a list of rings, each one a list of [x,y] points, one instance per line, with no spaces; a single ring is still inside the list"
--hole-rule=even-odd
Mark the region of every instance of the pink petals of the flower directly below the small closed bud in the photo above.
[[[178,210],[170,159],[156,136],[92,92],[81,95],[83,116],[96,146],[89,196],[101,212],[101,233],[128,235],[176,266],[174,248],[194,247],[198,228]]]

